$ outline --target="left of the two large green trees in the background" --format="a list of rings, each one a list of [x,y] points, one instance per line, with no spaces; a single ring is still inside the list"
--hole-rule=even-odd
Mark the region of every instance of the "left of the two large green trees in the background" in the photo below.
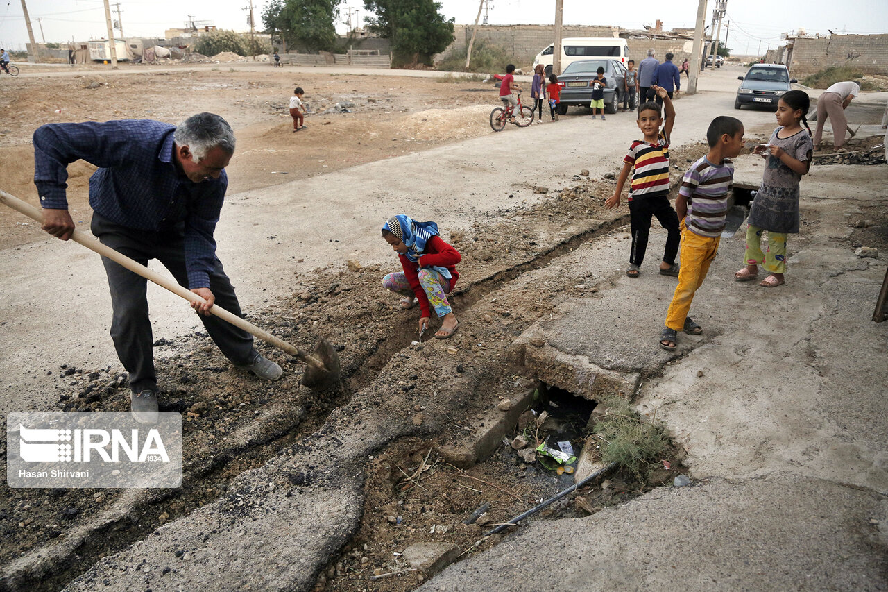
[[[339,0],[272,0],[262,12],[266,31],[304,52],[329,51],[336,44]]]

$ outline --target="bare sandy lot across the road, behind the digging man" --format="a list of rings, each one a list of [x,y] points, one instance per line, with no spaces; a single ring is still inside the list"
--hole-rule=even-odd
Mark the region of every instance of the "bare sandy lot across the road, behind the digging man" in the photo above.
[[[41,124],[109,119],[157,119],[177,124],[198,111],[224,116],[237,135],[228,167],[229,193],[265,188],[321,172],[400,156],[490,132],[478,125],[496,103],[496,89],[465,79],[377,78],[181,70],[46,79],[6,79],[0,87],[0,189],[36,204],[31,134]],[[301,86],[311,114],[292,132],[289,97]],[[328,112],[339,103],[350,112]],[[446,109],[446,110],[445,110]],[[88,180],[95,167],[68,168],[75,223],[89,220]],[[4,209],[5,210],[5,209]],[[42,240],[35,223],[0,211],[0,249]]]

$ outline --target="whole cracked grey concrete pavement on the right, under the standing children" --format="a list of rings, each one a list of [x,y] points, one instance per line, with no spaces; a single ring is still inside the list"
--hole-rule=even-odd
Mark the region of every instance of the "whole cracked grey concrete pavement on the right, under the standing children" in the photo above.
[[[751,164],[741,160],[738,177],[760,177]],[[519,527],[420,590],[888,588],[888,324],[870,321],[885,264],[847,241],[859,200],[888,197],[886,167],[860,167],[854,188],[855,172],[823,168],[803,180],[787,284],[734,282],[744,236],[723,239],[691,308],[703,333],[679,334],[678,352],[657,346],[675,280],[623,276],[628,245],[616,233],[596,251],[613,265],[609,282],[566,294],[562,314],[522,338],[641,372],[639,411],[662,421],[704,484]]]

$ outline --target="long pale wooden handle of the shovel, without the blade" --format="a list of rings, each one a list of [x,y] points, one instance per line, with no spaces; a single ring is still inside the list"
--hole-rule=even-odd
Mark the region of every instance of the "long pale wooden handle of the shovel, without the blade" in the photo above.
[[[16,212],[20,212],[31,218],[32,220],[36,220],[43,224],[44,222],[44,213],[39,209],[34,207],[31,204],[27,204],[21,201],[18,197],[12,196],[5,191],[0,190],[0,204],[5,204],[11,207]],[[141,263],[131,260],[126,255],[123,255],[120,252],[116,252],[111,247],[107,246],[107,244],[99,243],[99,240],[95,236],[91,236],[86,234],[81,230],[75,230],[74,234],[71,235],[71,240],[76,243],[83,244],[87,249],[91,251],[98,252],[102,257],[107,257],[110,260],[119,263],[124,268],[129,269],[131,272],[135,274],[139,274],[154,282],[155,284],[166,288],[170,292],[174,294],[178,294],[185,300],[189,300],[191,302],[204,302],[200,296],[187,290],[184,286],[181,286],[174,282],[173,280],[161,276],[155,271],[145,267]],[[280,349],[281,351],[289,354],[290,356],[294,356],[305,362],[305,364],[309,364],[318,370],[327,371],[327,367],[319,360],[318,358],[312,356],[310,353],[305,351],[303,348],[297,348],[296,346],[290,345],[284,340],[275,337],[271,333],[267,331],[263,331],[259,329],[256,325],[250,323],[247,320],[242,319],[240,316],[234,315],[234,313],[228,312],[225,308],[218,306],[218,304],[214,304],[212,308],[210,308],[210,314],[218,316],[222,320],[234,324],[236,327],[240,327],[244,331],[250,333],[255,337],[258,337],[260,340],[265,341],[266,343],[270,343],[275,348]]]

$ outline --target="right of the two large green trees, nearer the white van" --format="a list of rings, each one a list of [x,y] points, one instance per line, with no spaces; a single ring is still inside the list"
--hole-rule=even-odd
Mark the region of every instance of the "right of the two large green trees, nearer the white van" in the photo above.
[[[369,29],[392,41],[397,61],[431,63],[432,55],[453,43],[454,19],[445,20],[441,4],[434,0],[364,0],[364,8],[376,13],[367,19]]]

